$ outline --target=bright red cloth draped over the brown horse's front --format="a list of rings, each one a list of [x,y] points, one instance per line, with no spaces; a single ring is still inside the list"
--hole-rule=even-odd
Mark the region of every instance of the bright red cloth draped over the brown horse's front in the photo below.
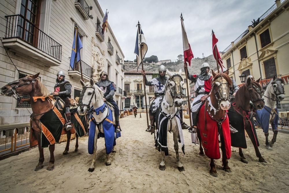
[[[220,149],[218,135],[221,131],[218,131],[218,123],[213,120],[205,109],[205,104],[201,106],[199,111],[199,118],[197,128],[200,131],[202,145],[205,150],[205,154],[211,159],[220,159]],[[206,111],[206,112],[205,112]],[[203,116],[205,115],[205,116]],[[226,116],[225,120],[221,124],[221,128],[225,141],[226,158],[231,157],[231,136],[229,128],[229,119]]]

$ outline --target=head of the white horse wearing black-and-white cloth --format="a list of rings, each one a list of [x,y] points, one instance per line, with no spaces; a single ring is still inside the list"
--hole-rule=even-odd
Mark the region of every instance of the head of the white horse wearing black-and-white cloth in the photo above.
[[[168,74],[168,80],[165,85],[165,93],[170,93],[173,99],[173,105],[176,107],[181,107],[183,104],[183,78],[181,78],[181,69],[179,73],[172,74],[168,69],[166,70]]]

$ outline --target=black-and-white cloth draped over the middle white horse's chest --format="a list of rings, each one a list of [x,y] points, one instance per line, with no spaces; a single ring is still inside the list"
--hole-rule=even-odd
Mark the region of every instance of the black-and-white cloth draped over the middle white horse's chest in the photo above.
[[[176,117],[178,130],[179,130],[179,142],[181,143],[181,150],[185,154],[185,145],[184,145],[184,136],[183,131],[181,129],[181,121],[179,111],[175,113],[175,115],[166,114],[160,107],[160,113],[158,116],[158,124],[157,124],[157,137],[155,138],[155,147],[158,147],[158,151],[164,151],[164,155],[168,155],[168,146],[167,146],[167,134],[170,131],[168,128],[168,123],[174,117]],[[170,131],[171,132],[171,131]]]

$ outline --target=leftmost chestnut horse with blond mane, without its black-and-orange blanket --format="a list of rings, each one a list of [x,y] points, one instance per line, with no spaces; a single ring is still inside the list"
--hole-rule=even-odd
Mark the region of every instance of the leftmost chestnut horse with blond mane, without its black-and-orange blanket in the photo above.
[[[30,96],[30,104],[33,112],[33,119],[30,120],[31,131],[30,131],[30,146],[35,146],[38,144],[39,149],[39,162],[35,168],[35,171],[43,168],[44,161],[44,153],[43,148],[41,148],[41,123],[39,121],[40,117],[51,110],[54,104],[54,99],[48,97],[50,95],[47,88],[37,79],[39,73],[33,76],[26,76],[25,78],[20,78],[13,82],[6,84],[1,88],[1,94],[6,96],[14,96],[14,98],[18,99],[20,95],[29,94]],[[34,100],[33,97],[42,98],[38,100]],[[63,155],[66,155],[69,150],[71,132],[67,132],[67,143]],[[34,140],[33,140],[34,139]],[[36,140],[37,141],[36,141]],[[55,144],[49,145],[50,151],[50,160],[49,165],[47,166],[47,170],[53,170],[54,168],[54,149]],[[76,134],[76,144],[75,144],[75,152],[78,150],[78,135]]]

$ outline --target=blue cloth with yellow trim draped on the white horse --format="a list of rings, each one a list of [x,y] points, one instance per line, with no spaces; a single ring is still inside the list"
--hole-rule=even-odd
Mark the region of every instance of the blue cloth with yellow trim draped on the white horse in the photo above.
[[[103,104],[102,106],[98,107],[97,109],[94,110],[96,115],[99,115],[99,113],[103,113],[105,109],[108,108],[107,104]],[[103,132],[99,132],[97,139],[100,137],[104,137],[105,141],[105,149],[106,149],[106,154],[110,154],[112,152],[113,146],[116,145],[115,139],[118,137],[121,137],[121,132],[116,133],[114,135],[114,124],[113,124],[113,119],[112,119],[112,111],[110,108],[108,108],[108,115],[106,115],[106,118],[101,122],[101,123],[96,123],[95,119],[93,116],[90,116],[90,126],[89,126],[89,135],[88,135],[88,153],[93,154],[94,150],[94,137],[95,137],[95,129],[101,130],[103,128]]]

